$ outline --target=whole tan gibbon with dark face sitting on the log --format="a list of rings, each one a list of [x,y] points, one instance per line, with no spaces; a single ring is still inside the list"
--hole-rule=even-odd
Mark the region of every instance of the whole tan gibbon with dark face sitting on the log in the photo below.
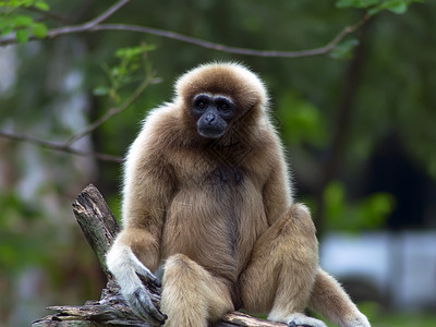
[[[368,327],[318,266],[308,209],[294,204],[263,82],[235,63],[180,77],[130,148],[123,229],[107,264],[132,311],[166,326],[207,326],[243,308],[290,326]],[[162,280],[152,271],[162,265]],[[157,307],[143,282],[161,287]]]

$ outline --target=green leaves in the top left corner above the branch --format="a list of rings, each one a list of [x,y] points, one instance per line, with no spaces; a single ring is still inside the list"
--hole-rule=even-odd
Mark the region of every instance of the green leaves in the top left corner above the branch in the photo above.
[[[22,9],[31,7],[39,11],[50,9],[47,2],[40,0],[0,1],[0,9],[2,9],[0,13],[0,35],[15,32],[16,40],[21,44],[27,43],[31,35],[45,38],[48,31],[46,24],[36,22],[29,15],[21,14]]]

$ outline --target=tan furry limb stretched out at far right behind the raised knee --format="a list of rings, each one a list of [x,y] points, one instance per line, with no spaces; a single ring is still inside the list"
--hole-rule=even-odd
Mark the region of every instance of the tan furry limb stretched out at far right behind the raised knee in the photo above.
[[[339,326],[371,327],[366,316],[358,310],[342,287],[320,268],[308,306]]]

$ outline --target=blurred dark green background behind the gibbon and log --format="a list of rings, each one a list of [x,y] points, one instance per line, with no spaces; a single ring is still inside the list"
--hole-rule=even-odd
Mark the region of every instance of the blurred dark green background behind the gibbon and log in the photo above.
[[[171,99],[177,76],[216,60],[243,62],[268,86],[322,266],[373,326],[436,326],[434,0],[136,0],[107,21],[306,50],[361,21],[365,9],[355,7],[384,5],[314,57],[239,56],[133,32],[44,39],[47,28],[89,21],[108,2],[0,2],[0,326],[99,299],[105,279],[71,203],[94,183],[119,218],[120,159],[141,120]],[[7,45],[13,31],[17,41]],[[27,41],[31,34],[43,39]],[[121,112],[80,137],[111,108]]]

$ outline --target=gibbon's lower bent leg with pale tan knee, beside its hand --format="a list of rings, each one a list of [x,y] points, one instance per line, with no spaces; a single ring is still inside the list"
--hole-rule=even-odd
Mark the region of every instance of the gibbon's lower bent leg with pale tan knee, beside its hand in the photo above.
[[[165,326],[207,327],[233,311],[228,286],[183,254],[165,264],[160,307],[168,316]]]

